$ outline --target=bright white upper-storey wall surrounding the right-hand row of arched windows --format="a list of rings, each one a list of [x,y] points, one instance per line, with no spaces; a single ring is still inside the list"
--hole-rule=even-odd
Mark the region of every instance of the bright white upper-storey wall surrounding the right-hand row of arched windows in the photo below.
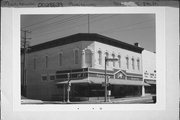
[[[102,65],[99,65],[98,63],[98,51],[102,51]],[[140,53],[132,52],[129,50],[121,49],[118,47],[114,47],[111,45],[103,44],[100,42],[95,42],[95,68],[99,69],[104,69],[104,64],[105,64],[105,52],[109,53],[109,58],[112,58],[112,54],[115,54],[115,58],[117,58],[118,55],[121,55],[121,68],[119,68],[118,62],[115,63],[115,67],[113,67],[113,62],[109,62],[109,66],[107,69],[122,69],[126,70],[127,72],[130,73],[137,73],[137,74],[142,74],[142,58]],[[126,57],[129,57],[129,69],[126,67]],[[134,58],[135,61],[135,69],[132,69],[132,58]],[[137,68],[137,59],[139,58],[140,60],[140,69],[138,70]]]

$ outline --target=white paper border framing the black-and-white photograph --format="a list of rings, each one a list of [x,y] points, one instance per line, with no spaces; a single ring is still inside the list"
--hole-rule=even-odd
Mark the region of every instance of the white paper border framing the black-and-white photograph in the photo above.
[[[8,9],[8,10],[7,10]],[[175,8],[172,8],[175,9]],[[63,112],[63,111],[103,111],[106,113],[106,111],[116,111],[115,113],[120,112],[123,113],[125,111],[131,111],[133,113],[148,113],[152,112],[154,110],[158,110],[157,113],[163,113],[162,111],[166,111],[167,109],[167,93],[172,91],[167,91],[167,43],[169,43],[170,40],[167,40],[166,38],[166,9],[165,7],[64,7],[64,8],[3,8],[2,11],[7,11],[10,14],[7,16],[10,18],[9,21],[12,23],[9,23],[10,28],[12,30],[7,37],[7,41],[2,42],[2,45],[8,45],[8,48],[11,48],[12,51],[7,51],[7,53],[10,53],[8,55],[8,60],[10,62],[10,65],[6,63],[9,68],[6,70],[9,70],[10,76],[2,75],[2,77],[7,77],[5,80],[6,82],[2,81],[2,90],[6,91],[6,94],[2,94],[2,101],[3,103],[9,105],[9,109],[12,109],[12,111],[19,111],[19,112],[28,112],[28,111],[43,111],[43,112]],[[172,10],[176,11],[176,10]],[[177,12],[177,11],[176,11]],[[155,14],[156,15],[156,71],[157,71],[157,102],[156,104],[40,104],[40,105],[22,105],[21,104],[21,95],[20,95],[20,15],[22,14]],[[3,21],[3,20],[2,20]],[[4,23],[3,23],[4,24]],[[6,27],[7,27],[6,26]],[[3,25],[2,27],[5,27]],[[5,31],[7,32],[7,31]],[[176,34],[176,33],[175,33]],[[12,35],[12,36],[11,36]],[[3,40],[5,37],[2,37]],[[168,41],[168,42],[167,42]],[[177,42],[177,39],[172,42],[171,46],[174,46]],[[7,48],[2,47],[2,54],[4,55],[5,50]],[[168,49],[169,50],[169,49]],[[175,52],[177,50],[175,49]],[[175,54],[176,55],[176,54]],[[3,58],[3,60],[6,60],[7,58]],[[175,64],[177,63],[177,60],[175,60]],[[5,68],[5,65],[2,65],[3,68]],[[6,67],[7,67],[6,66]],[[177,70],[177,68],[175,68]],[[11,72],[12,71],[12,72]],[[176,71],[176,73],[178,70]],[[178,75],[178,74],[177,74]],[[175,77],[175,80],[177,80],[177,77]],[[173,82],[175,85],[178,82]],[[4,86],[8,85],[9,86]],[[174,84],[173,84],[174,86]],[[172,87],[172,85],[171,85]],[[175,89],[177,86],[175,86]],[[12,95],[12,96],[11,96]],[[175,95],[177,95],[175,93]],[[7,103],[6,103],[7,102]],[[12,105],[12,106],[11,106]],[[4,106],[4,105],[3,105]],[[42,114],[43,114],[42,112]],[[147,115],[147,113],[145,115]],[[155,114],[155,113],[151,113]],[[126,113],[128,115],[128,113]],[[121,115],[124,116],[124,115]],[[156,115],[157,116],[157,115]],[[165,115],[166,116],[166,115]],[[129,116],[130,118],[132,116]],[[135,119],[138,117],[136,116]]]

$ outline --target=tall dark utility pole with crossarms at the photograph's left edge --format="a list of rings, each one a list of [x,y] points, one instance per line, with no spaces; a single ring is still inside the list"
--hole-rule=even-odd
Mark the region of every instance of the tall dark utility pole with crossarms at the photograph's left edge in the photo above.
[[[27,80],[26,80],[26,52],[28,50],[28,45],[29,45],[29,41],[27,41],[28,39],[31,38],[27,38],[27,33],[31,33],[31,31],[29,30],[21,30],[24,33],[24,36],[22,37],[22,87],[21,87],[21,94],[26,96],[26,88],[27,88]]]

